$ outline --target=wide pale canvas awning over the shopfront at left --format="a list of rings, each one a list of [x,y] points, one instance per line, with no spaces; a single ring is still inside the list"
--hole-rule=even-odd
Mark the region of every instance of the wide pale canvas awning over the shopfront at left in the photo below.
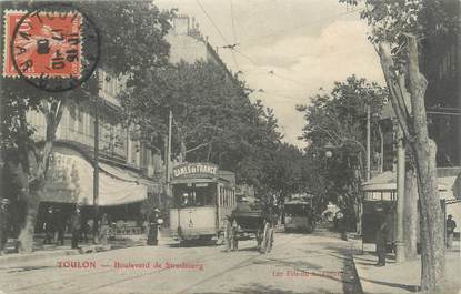
[[[148,181],[136,172],[101,163],[99,205],[120,205],[146,200]],[[79,152],[54,148],[41,201],[93,205],[93,166]]]

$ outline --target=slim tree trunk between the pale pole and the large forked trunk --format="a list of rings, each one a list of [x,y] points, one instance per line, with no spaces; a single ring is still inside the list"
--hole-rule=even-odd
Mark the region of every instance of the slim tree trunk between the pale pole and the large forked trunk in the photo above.
[[[407,261],[414,260],[418,241],[418,183],[417,174],[413,169],[405,172],[405,192],[403,207],[403,244]]]

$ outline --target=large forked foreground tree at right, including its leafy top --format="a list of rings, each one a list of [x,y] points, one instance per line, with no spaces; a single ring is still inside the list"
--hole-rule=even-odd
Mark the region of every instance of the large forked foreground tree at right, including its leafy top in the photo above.
[[[428,135],[424,108],[428,81],[419,69],[418,43],[428,34],[450,30],[457,19],[447,18],[441,10],[443,1],[439,0],[365,0],[364,3],[361,18],[372,28],[369,39],[380,58],[392,109],[414,158],[421,203],[421,287],[433,292],[444,282],[444,230],[437,186],[437,146]],[[423,26],[428,17],[438,20],[433,30]]]

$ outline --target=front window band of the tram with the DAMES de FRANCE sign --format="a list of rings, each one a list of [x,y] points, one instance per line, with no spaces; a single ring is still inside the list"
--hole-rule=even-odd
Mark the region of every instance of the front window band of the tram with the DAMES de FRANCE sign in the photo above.
[[[176,207],[216,205],[216,183],[174,184]]]

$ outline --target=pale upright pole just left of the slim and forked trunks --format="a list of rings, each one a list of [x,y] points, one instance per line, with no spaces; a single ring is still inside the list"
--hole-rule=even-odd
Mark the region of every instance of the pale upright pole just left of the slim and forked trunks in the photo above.
[[[397,237],[395,237],[395,262],[405,261],[403,242],[403,213],[405,192],[405,149],[403,146],[403,132],[397,124]]]

